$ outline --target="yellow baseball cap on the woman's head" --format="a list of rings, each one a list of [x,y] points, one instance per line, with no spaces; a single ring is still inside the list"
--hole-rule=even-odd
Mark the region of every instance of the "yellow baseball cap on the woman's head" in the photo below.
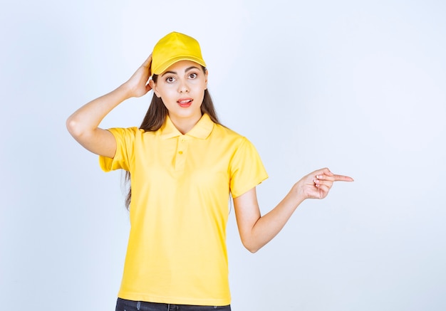
[[[206,67],[198,41],[174,31],[161,38],[153,48],[152,75],[163,73],[170,65],[180,60],[192,60]]]

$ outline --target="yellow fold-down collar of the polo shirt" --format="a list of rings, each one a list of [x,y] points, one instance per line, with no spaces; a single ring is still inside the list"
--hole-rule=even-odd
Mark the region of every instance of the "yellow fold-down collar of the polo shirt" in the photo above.
[[[192,130],[187,132],[185,135],[199,139],[206,139],[211,134],[213,128],[214,128],[214,122],[212,122],[209,115],[204,113],[202,117],[198,120],[197,124],[194,127],[192,127]],[[173,125],[169,115],[167,115],[164,125],[162,125],[162,127],[160,128],[160,131],[161,131],[161,137],[163,139],[169,139],[182,135],[181,132],[177,130],[177,127]]]

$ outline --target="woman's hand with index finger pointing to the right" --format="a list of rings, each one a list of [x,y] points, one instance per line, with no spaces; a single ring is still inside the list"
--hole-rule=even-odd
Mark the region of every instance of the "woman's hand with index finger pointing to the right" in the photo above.
[[[328,195],[334,181],[353,181],[353,178],[333,174],[325,168],[304,176],[295,186],[305,199],[323,199]]]

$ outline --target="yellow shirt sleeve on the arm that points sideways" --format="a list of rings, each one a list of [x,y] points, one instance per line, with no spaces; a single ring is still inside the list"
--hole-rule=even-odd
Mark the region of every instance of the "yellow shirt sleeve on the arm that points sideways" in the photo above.
[[[230,189],[233,198],[241,196],[268,178],[259,153],[246,137],[232,158],[230,164]]]

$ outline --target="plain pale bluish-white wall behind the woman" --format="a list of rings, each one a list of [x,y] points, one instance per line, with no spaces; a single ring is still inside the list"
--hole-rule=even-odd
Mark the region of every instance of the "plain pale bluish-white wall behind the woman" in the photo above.
[[[270,178],[262,212],[320,167],[348,174],[256,254],[228,238],[233,310],[445,310],[442,1],[2,1],[4,310],[114,310],[120,172],[68,135],[170,31],[199,40],[222,122]],[[139,125],[150,95],[103,127]]]

